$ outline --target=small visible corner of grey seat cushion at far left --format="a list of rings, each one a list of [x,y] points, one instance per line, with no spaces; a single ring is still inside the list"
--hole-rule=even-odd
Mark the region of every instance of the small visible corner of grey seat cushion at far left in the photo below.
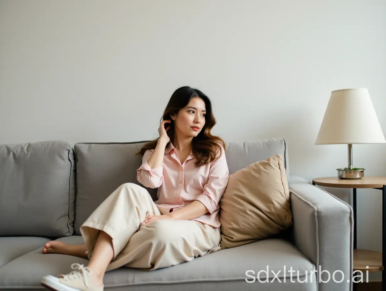
[[[0,267],[36,248],[42,248],[48,240],[43,237],[0,237]]]

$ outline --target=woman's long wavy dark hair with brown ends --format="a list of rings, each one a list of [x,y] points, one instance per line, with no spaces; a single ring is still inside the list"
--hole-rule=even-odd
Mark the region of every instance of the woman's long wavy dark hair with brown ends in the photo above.
[[[188,105],[190,100],[194,97],[199,97],[205,102],[205,125],[201,129],[200,133],[192,140],[192,152],[196,158],[196,167],[200,165],[206,165],[207,163],[214,162],[220,158],[222,154],[222,148],[225,150],[225,142],[218,136],[214,136],[210,133],[213,126],[216,124],[216,119],[213,116],[212,102],[209,97],[198,89],[191,88],[189,86],[180,87],[174,91],[171,95],[168,105],[164,110],[160,123],[163,120],[171,119],[171,115],[178,114],[178,112]],[[168,123],[165,124],[165,128]],[[169,123],[168,136],[173,143],[174,138],[174,121]],[[141,150],[137,154],[144,155],[146,150],[152,150],[156,148],[159,138],[152,140],[142,146]]]

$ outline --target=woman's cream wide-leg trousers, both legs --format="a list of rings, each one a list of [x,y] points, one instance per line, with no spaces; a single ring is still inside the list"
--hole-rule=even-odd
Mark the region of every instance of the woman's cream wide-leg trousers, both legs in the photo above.
[[[120,185],[80,227],[89,257],[101,230],[112,237],[114,249],[107,271],[170,267],[220,249],[220,228],[194,220],[144,224],[147,215],[161,215],[149,192],[133,183]]]

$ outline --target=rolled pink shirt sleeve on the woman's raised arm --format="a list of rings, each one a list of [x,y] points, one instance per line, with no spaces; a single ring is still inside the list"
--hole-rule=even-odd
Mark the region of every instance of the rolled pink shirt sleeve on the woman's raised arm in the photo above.
[[[163,182],[163,167],[150,168],[147,160],[154,150],[147,150],[142,157],[142,165],[137,170],[137,180],[148,188],[158,188]]]

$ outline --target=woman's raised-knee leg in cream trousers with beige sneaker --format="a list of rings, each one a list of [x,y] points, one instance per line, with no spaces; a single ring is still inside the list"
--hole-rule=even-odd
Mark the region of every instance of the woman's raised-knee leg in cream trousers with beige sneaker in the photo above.
[[[133,183],[120,185],[80,227],[90,258],[88,266],[73,264],[73,272],[45,276],[41,284],[53,290],[103,290],[101,284],[108,265],[125,248],[147,215],[161,215],[149,192]],[[125,263],[120,261],[116,267]],[[84,286],[84,282],[91,287]]]

